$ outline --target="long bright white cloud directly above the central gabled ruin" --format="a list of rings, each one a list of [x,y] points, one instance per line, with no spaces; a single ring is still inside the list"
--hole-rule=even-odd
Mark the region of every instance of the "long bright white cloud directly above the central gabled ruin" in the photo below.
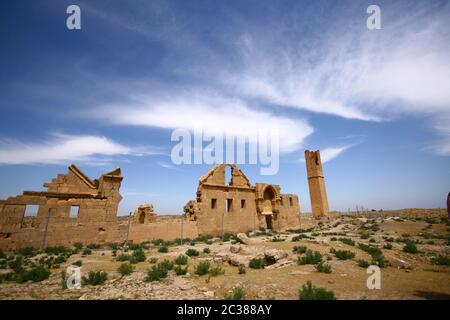
[[[109,105],[89,116],[120,125],[149,126],[164,129],[201,129],[206,135],[252,137],[277,132],[280,151],[291,152],[303,146],[313,128],[303,119],[254,110],[241,100],[217,95],[180,95],[167,99],[140,97],[137,104]]]

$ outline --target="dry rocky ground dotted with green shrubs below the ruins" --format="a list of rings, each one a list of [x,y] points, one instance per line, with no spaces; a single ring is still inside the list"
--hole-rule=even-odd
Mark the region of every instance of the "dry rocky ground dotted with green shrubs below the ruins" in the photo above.
[[[336,213],[326,220],[305,215],[301,230],[256,231],[229,241],[200,239],[195,244],[168,246],[168,252],[159,252],[164,251],[159,249],[161,245],[147,245],[145,261],[133,264],[134,272],[127,276],[117,271],[123,263],[116,261],[120,249],[115,252],[105,247],[91,254],[81,250],[53,265],[50,277],[41,282],[19,284],[4,278],[0,299],[224,299],[235,288],[242,288],[246,299],[298,299],[299,289],[307,281],[333,291],[337,299],[450,299],[449,231],[446,212],[438,209]],[[381,258],[369,254],[367,246],[379,248]],[[294,247],[319,252],[331,273],[317,271],[317,264],[298,264],[307,253],[296,253]],[[152,266],[173,261],[188,249],[199,255],[188,258],[187,274],[176,275],[172,270],[160,281],[144,281]],[[350,251],[354,257],[341,260],[330,249]],[[30,259],[42,256],[45,254]],[[264,261],[264,268],[250,268],[251,259]],[[78,260],[84,275],[102,270],[107,272],[107,280],[64,289],[61,272]],[[360,260],[383,265],[381,289],[367,288],[369,275]],[[195,267],[205,261],[211,267],[219,266],[219,274],[197,275]],[[244,268],[245,273],[240,274]],[[7,265],[0,270],[1,274],[8,272]]]

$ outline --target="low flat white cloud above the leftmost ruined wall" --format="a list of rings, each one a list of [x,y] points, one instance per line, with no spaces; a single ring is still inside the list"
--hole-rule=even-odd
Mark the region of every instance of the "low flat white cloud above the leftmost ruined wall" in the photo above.
[[[129,148],[103,136],[55,134],[46,141],[0,140],[0,165],[67,164],[105,165],[114,156],[156,152]]]

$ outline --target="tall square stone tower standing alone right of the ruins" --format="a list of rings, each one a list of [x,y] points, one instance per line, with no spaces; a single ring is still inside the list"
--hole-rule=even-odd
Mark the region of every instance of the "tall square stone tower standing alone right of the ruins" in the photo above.
[[[322,161],[320,160],[320,151],[306,150],[305,160],[313,217],[327,217],[328,198],[323,177]]]

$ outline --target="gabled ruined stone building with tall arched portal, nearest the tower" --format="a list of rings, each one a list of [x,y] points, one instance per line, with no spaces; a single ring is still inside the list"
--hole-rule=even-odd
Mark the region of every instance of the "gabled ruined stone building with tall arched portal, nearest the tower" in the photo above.
[[[225,170],[231,181],[225,181]],[[280,186],[252,186],[234,164],[219,164],[199,180],[197,199],[185,206],[185,219],[196,221],[199,234],[245,232],[260,227],[284,230],[298,228],[300,209],[295,194],[281,194]]]

